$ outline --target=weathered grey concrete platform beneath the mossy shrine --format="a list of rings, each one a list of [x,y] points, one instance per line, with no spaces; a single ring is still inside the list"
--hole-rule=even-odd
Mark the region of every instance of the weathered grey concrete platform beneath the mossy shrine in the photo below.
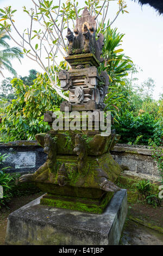
[[[9,215],[7,245],[118,245],[127,215],[126,190],[114,194],[103,214],[40,205],[40,198]]]

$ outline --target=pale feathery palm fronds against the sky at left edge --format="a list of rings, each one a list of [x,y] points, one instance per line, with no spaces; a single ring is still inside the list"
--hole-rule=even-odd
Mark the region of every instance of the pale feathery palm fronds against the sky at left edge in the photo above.
[[[3,50],[0,50],[0,74],[4,77],[2,70],[7,69],[12,75],[16,76],[15,69],[12,68],[10,60],[23,58],[23,54],[18,47],[10,48],[9,44],[6,42],[7,39],[10,39],[10,36],[7,35],[7,32],[1,28],[0,29],[0,47],[3,47]]]

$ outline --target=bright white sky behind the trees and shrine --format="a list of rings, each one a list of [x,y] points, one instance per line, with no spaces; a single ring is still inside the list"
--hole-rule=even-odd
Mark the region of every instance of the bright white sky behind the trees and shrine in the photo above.
[[[57,5],[59,0],[55,0]],[[112,28],[117,27],[118,32],[124,33],[122,48],[124,54],[129,56],[136,65],[139,65],[143,70],[137,77],[139,83],[152,77],[155,81],[156,87],[154,90],[154,99],[159,98],[161,87],[163,87],[162,72],[163,72],[163,15],[159,16],[156,11],[149,7],[149,5],[141,5],[126,0],[127,11],[129,14],[120,14],[117,20],[113,23]],[[26,13],[23,13],[22,7],[25,5],[27,9],[33,6],[31,0],[0,0],[0,8],[11,5],[12,9],[17,9],[14,20],[18,30],[24,31],[29,26],[29,19]],[[79,5],[84,7],[84,0],[79,1]],[[109,6],[108,18],[110,21],[114,19],[118,10],[117,1],[111,1]],[[10,46],[16,46],[11,40]],[[62,60],[62,59],[60,59]],[[18,60],[12,61],[13,68],[18,75],[26,76],[30,69],[36,69],[42,72],[39,65],[27,57],[22,59],[22,64]],[[5,77],[11,77],[8,71],[3,71]],[[0,77],[0,82],[3,80]]]

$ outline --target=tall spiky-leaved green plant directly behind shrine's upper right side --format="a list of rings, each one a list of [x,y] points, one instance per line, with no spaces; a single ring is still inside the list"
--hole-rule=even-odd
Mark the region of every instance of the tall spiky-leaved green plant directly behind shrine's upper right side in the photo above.
[[[105,27],[105,24],[104,24]],[[128,76],[128,72],[133,69],[133,62],[129,57],[120,54],[121,45],[124,34],[117,32],[117,28],[111,29],[106,25],[106,29],[102,31],[104,34],[103,57],[104,63],[101,63],[99,72],[105,70],[109,75],[109,89],[106,94],[105,104],[106,110],[111,111],[112,115],[119,115],[128,105],[129,92],[126,87],[124,77]]]

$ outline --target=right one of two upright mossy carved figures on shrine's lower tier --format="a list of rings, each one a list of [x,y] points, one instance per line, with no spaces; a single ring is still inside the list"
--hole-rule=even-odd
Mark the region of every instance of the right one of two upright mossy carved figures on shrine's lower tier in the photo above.
[[[83,175],[86,172],[87,151],[85,141],[79,134],[75,136],[75,148],[73,151],[78,155],[78,172]]]

